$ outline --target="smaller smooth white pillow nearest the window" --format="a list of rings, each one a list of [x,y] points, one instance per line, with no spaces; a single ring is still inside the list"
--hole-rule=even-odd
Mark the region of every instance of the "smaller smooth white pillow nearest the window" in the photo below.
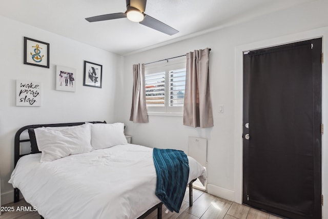
[[[91,124],[91,145],[94,149],[110,148],[128,144],[123,123]]]

